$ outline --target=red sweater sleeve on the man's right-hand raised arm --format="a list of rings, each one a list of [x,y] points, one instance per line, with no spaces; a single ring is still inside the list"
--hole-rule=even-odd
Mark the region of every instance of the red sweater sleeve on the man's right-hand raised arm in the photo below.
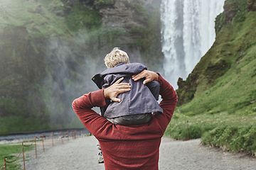
[[[176,103],[178,102],[178,96],[173,86],[169,84],[161,75],[159,74],[160,92],[162,101],[160,102],[160,107],[163,109],[163,113],[156,115],[159,119],[159,124],[164,131],[167,125],[171,121],[171,117],[174,114],[174,109],[176,108]]]

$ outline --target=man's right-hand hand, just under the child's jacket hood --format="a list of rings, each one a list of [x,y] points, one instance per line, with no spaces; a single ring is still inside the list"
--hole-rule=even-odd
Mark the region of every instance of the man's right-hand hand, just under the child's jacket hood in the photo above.
[[[134,81],[137,81],[139,79],[145,78],[145,80],[143,81],[143,84],[147,84],[151,81],[159,81],[159,74],[156,74],[155,72],[151,72],[149,70],[144,69],[142,72],[140,72],[137,75],[133,75],[132,79]]]

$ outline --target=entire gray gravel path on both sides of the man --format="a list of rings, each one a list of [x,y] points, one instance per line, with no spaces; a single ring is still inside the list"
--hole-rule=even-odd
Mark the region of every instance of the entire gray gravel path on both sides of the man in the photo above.
[[[95,137],[82,137],[56,145],[26,164],[28,170],[102,170],[97,164]],[[203,147],[200,140],[186,142],[163,138],[160,147],[159,169],[174,170],[255,170],[256,159],[242,154],[231,154],[219,149]]]

